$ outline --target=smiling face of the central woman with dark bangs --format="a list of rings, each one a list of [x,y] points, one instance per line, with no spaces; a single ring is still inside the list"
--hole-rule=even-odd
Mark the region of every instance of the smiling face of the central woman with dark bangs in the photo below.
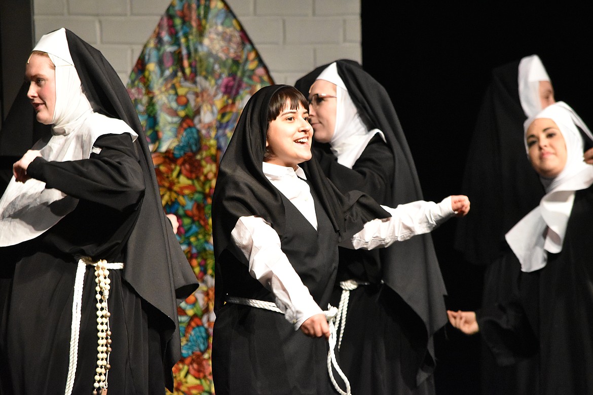
[[[311,159],[313,127],[308,122],[309,113],[299,104],[295,110],[287,103],[267,129],[266,148],[270,155],[265,162],[296,168]]]

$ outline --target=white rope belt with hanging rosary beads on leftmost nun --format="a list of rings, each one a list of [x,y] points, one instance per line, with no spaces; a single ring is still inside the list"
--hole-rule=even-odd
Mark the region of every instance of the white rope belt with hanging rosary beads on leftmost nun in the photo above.
[[[95,372],[95,383],[93,394],[98,391],[107,393],[107,375],[109,374],[109,354],[111,352],[111,330],[109,326],[109,309],[107,298],[109,298],[110,282],[109,270],[123,269],[122,263],[108,263],[104,260],[93,262],[90,258],[81,258],[76,266],[74,280],[74,298],[72,300],[72,325],[70,329],[70,358],[68,364],[68,377],[66,378],[65,395],[72,394],[74,378],[76,377],[76,364],[78,362],[78,339],[80,337],[80,323],[82,311],[82,289],[84,285],[84,273],[87,265],[95,267],[95,282],[97,287],[97,368]]]

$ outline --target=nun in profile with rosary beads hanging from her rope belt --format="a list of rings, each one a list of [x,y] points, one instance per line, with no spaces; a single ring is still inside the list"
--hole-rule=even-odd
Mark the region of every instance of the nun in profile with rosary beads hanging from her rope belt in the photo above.
[[[52,129],[0,200],[0,393],[173,391],[177,305],[197,280],[127,91],[63,28],[37,43],[26,77]]]

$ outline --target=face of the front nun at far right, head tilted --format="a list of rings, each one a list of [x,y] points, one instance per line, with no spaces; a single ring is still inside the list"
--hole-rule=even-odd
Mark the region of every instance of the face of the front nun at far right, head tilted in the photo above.
[[[534,120],[525,133],[525,139],[531,165],[539,175],[554,178],[562,172],[568,158],[566,142],[553,120]]]

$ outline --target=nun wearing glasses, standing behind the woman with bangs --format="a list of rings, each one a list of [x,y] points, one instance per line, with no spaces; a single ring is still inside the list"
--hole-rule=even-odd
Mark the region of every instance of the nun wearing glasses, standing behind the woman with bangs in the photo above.
[[[323,97],[327,82],[335,85],[337,97]],[[361,190],[391,207],[422,199],[391,99],[358,63],[342,59],[320,66],[295,86],[315,110],[310,117],[315,156],[340,191]],[[323,101],[331,100],[337,102],[336,110],[327,115],[324,106],[331,102]],[[322,139],[322,130],[330,137]],[[338,280],[346,288],[358,284],[349,291],[340,346],[342,367],[355,393],[433,393],[433,336],[447,323],[447,292],[431,235],[381,251],[340,249]],[[334,303],[343,292],[336,287]]]

